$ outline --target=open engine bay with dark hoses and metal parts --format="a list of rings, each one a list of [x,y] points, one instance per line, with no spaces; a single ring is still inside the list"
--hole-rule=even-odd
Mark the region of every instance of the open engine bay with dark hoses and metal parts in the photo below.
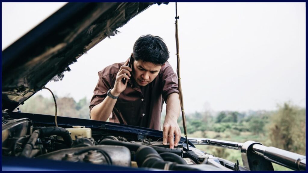
[[[163,145],[162,133],[161,136],[145,135],[146,132],[140,133],[138,129],[123,127],[115,131],[111,126],[106,127],[108,124],[85,127],[60,123],[55,127],[48,120],[12,119],[21,114],[24,113],[9,116],[2,112],[2,156],[155,170],[247,171],[238,163],[217,158],[193,145],[188,151],[184,138],[170,149],[169,145]]]

